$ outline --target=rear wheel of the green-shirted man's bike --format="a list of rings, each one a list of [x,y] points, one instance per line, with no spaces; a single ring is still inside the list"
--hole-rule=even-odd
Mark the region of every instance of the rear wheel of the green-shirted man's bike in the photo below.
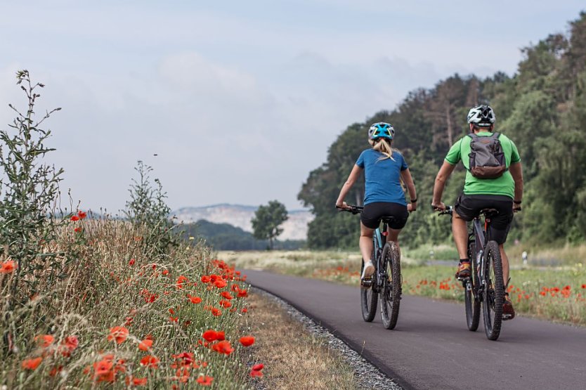
[[[502,304],[504,301],[504,285],[502,281],[502,259],[500,250],[495,241],[489,241],[486,245],[485,270],[484,270],[484,294],[483,294],[483,318],[484,332],[489,340],[496,340],[500,335],[502,323]]]

